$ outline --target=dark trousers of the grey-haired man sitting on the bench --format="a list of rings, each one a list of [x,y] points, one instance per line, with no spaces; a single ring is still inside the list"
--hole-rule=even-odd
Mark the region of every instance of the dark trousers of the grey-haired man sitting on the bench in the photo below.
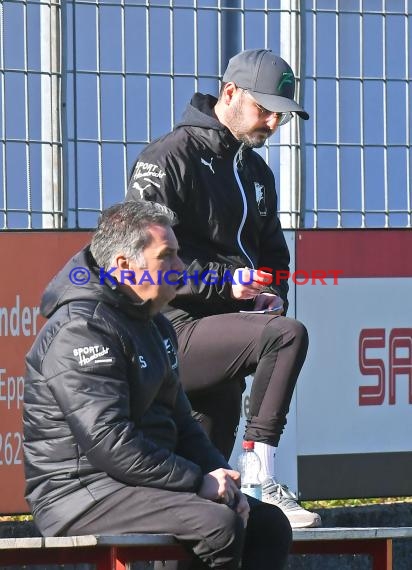
[[[96,503],[64,534],[170,533],[187,544],[194,560],[171,562],[169,568],[237,570],[242,560],[244,570],[280,570],[292,540],[289,521],[277,507],[254,499],[250,504],[245,530],[229,507],[194,493],[125,487]]]

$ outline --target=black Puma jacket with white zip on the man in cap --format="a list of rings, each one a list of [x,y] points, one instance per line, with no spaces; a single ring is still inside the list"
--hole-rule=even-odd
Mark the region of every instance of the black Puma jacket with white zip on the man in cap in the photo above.
[[[126,200],[169,206],[178,217],[174,231],[187,274],[214,271],[216,284],[187,279],[168,317],[182,321],[252,308],[231,298],[226,270],[238,267],[289,269],[289,252],[277,216],[272,171],[215,117],[216,99],[196,93],[183,120],[149,144],[138,157]],[[269,291],[287,306],[287,280]]]

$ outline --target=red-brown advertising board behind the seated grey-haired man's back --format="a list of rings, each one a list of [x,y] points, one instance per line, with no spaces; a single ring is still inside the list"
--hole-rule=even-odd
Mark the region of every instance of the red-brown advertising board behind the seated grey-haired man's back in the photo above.
[[[41,294],[88,232],[0,233],[0,514],[28,512],[24,500],[24,357],[44,323]]]

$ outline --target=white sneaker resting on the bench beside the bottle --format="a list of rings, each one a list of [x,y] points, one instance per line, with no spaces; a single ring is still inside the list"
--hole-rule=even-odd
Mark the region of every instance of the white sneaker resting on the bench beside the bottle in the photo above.
[[[275,479],[266,479],[262,483],[262,501],[279,507],[288,517],[292,528],[313,528],[322,526],[322,519],[317,513],[311,513],[297,503],[297,497],[286,485]]]

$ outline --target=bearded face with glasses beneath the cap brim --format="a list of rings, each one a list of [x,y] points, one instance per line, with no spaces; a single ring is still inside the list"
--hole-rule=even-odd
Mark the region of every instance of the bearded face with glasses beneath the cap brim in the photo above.
[[[250,148],[262,147],[276,131],[279,118],[260,107],[246,91],[238,87],[226,112],[226,125],[238,140]]]

